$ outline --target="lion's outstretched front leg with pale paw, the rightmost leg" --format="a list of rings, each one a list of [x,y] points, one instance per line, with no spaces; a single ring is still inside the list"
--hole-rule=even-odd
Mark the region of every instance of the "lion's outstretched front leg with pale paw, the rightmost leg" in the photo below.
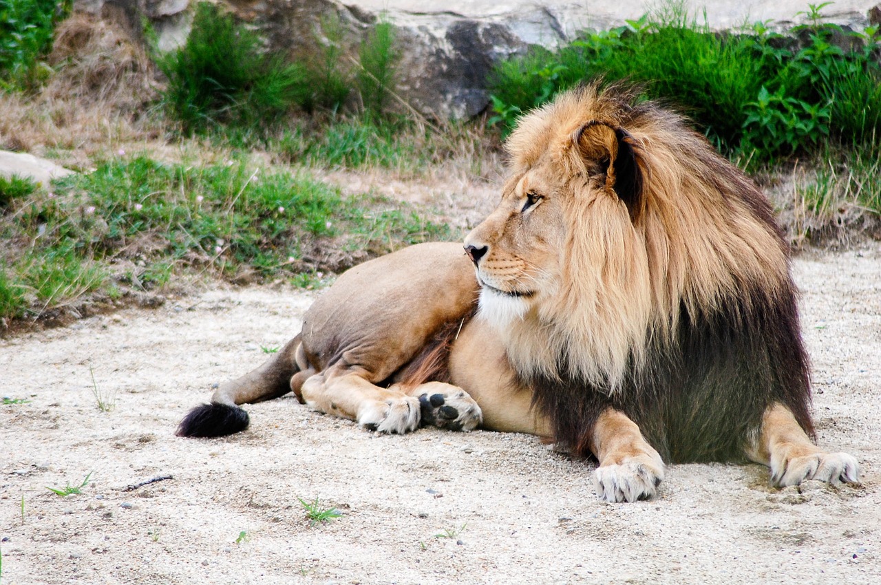
[[[748,446],[746,455],[770,467],[771,481],[779,486],[799,485],[808,479],[855,483],[859,477],[859,464],[853,455],[818,448],[788,408],[779,403],[765,411],[759,436]]]

